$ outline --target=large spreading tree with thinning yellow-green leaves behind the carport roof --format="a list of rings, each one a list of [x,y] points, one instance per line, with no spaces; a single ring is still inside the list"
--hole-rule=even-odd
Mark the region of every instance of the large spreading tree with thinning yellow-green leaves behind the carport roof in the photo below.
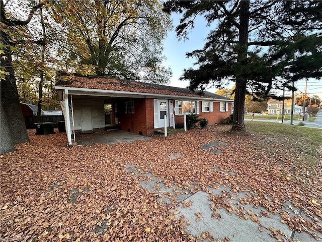
[[[67,28],[70,62],[99,76],[169,82],[161,62],[171,22],[157,0],[59,1],[53,17]]]

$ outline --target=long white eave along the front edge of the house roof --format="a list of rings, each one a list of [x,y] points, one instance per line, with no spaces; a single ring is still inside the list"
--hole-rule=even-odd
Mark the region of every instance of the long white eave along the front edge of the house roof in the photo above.
[[[168,94],[154,94],[154,93],[143,93],[143,92],[126,92],[126,91],[114,91],[114,90],[103,90],[103,89],[91,89],[91,88],[80,88],[80,87],[65,87],[55,86],[56,90],[68,90],[68,94],[72,95],[83,95],[83,96],[105,96],[105,97],[136,97],[136,98],[165,98],[165,99],[193,99],[198,98],[199,100],[205,101],[224,101],[233,102],[232,99],[220,99],[211,97],[196,97],[196,96],[181,96],[181,95],[168,95]]]

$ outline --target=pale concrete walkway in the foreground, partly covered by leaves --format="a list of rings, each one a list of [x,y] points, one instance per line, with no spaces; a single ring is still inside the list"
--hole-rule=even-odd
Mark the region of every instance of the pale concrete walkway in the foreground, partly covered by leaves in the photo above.
[[[175,159],[177,154],[169,158]],[[163,204],[174,203],[177,206],[176,217],[185,221],[185,231],[195,236],[197,241],[314,241],[320,240],[322,234],[292,231],[282,223],[280,214],[273,214],[263,207],[254,207],[244,203],[251,195],[247,192],[232,193],[231,189],[221,186],[208,188],[208,192],[181,190],[178,186],[166,186],[161,178],[151,172],[141,173],[136,165],[126,165],[126,171],[139,176],[142,188],[159,195]],[[142,179],[143,177],[143,179]],[[146,177],[146,179],[144,179]],[[301,211],[286,203],[281,211],[290,216],[298,216]],[[304,216],[304,215],[303,215]],[[305,216],[304,219],[309,219]],[[316,218],[317,219],[317,218]]]

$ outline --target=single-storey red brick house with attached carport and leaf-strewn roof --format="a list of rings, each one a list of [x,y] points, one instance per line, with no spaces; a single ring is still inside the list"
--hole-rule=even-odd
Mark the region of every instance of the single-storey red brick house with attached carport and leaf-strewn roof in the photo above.
[[[104,104],[112,106],[113,125],[150,136],[155,129],[163,128],[165,122],[168,127],[183,124],[187,113],[207,118],[209,125],[219,123],[231,114],[233,103],[210,92],[200,95],[188,88],[97,76],[57,75],[55,89],[65,116],[69,144],[72,130],[105,127]]]

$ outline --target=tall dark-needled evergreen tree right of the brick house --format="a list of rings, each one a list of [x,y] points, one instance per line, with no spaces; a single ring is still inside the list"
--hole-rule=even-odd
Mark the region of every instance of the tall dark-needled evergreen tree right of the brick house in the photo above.
[[[260,98],[275,97],[270,91],[281,88],[281,77],[291,82],[322,76],[321,2],[168,1],[164,9],[183,13],[178,37],[187,36],[198,14],[213,26],[204,48],[187,53],[197,58],[196,68],[185,69],[181,79],[201,90],[233,80],[232,130],[245,129],[247,88]]]

